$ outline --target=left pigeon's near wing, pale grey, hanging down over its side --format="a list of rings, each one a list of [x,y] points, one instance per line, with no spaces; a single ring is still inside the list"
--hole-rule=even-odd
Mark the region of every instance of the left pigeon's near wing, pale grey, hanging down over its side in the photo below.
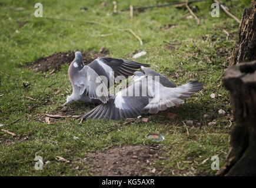
[[[90,99],[99,99],[103,103],[108,102],[108,83],[105,83],[94,69],[84,66],[74,80],[74,84],[80,88],[79,95],[85,92]]]

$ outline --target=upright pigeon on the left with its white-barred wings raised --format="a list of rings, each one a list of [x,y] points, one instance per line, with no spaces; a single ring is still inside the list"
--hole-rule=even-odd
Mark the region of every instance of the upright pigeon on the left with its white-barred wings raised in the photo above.
[[[73,92],[71,96],[67,96],[67,102],[64,105],[72,100],[107,103],[109,80],[112,79],[112,76],[114,78],[117,76],[123,76],[123,79],[128,78],[141,66],[149,65],[114,58],[97,58],[88,65],[84,65],[82,53],[75,52],[75,59],[68,68]],[[111,75],[111,72],[114,75]],[[101,93],[98,93],[97,88],[101,88]]]

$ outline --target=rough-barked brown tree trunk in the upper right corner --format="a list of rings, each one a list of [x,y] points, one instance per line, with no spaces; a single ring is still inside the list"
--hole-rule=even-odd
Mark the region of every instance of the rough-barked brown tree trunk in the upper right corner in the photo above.
[[[250,9],[245,9],[242,15],[230,66],[254,60],[256,60],[256,0],[252,0]]]

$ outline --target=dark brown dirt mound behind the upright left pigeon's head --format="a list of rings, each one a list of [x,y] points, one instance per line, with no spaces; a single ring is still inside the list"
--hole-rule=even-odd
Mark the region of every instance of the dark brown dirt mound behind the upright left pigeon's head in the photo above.
[[[87,65],[94,61],[94,59],[103,57],[108,53],[108,51],[100,52],[82,52],[84,64]],[[34,71],[46,72],[51,69],[59,70],[61,65],[70,64],[75,58],[75,52],[59,52],[48,57],[41,57],[35,62],[27,63],[28,69]]]

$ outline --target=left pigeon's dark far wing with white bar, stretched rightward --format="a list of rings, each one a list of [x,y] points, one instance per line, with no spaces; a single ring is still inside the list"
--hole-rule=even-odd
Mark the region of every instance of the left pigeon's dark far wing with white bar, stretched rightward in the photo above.
[[[98,58],[89,65],[100,76],[107,76],[109,78],[109,71],[114,71],[114,76],[128,76],[133,75],[141,66],[150,66],[144,63],[138,63],[135,61],[129,61],[125,59],[115,58]]]

